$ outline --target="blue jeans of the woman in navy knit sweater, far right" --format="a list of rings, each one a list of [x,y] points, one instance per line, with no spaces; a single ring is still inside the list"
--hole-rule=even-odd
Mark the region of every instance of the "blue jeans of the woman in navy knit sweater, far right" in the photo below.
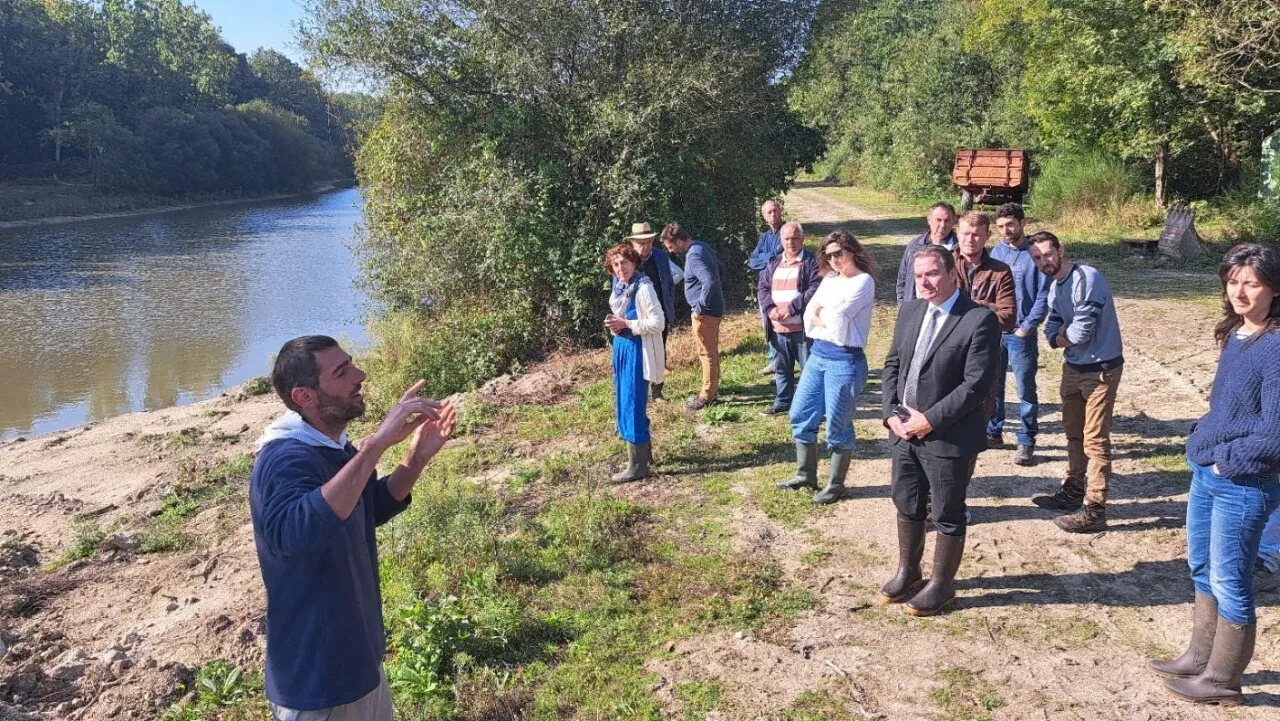
[[[1257,621],[1253,560],[1262,528],[1280,505],[1280,476],[1222,478],[1211,466],[1192,467],[1187,499],[1187,563],[1196,590],[1217,599],[1217,615],[1231,624]]]

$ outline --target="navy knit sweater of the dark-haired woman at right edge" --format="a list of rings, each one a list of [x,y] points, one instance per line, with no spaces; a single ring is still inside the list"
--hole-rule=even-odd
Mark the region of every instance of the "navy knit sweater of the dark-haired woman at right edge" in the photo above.
[[[1187,438],[1187,456],[1225,478],[1280,473],[1280,333],[1231,337],[1219,357],[1208,412]]]

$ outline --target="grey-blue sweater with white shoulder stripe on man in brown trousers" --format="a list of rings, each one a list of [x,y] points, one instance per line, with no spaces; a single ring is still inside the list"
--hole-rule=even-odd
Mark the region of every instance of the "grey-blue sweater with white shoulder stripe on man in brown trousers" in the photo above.
[[[1048,320],[1044,323],[1050,347],[1057,347],[1055,338],[1062,328],[1073,343],[1062,357],[1073,370],[1094,373],[1124,364],[1116,305],[1097,268],[1076,263],[1066,278],[1050,286]]]

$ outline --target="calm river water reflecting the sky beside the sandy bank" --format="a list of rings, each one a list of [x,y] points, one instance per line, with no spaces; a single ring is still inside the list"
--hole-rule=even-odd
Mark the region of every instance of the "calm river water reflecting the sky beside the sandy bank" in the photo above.
[[[0,438],[189,403],[280,344],[360,344],[355,190],[0,229]]]

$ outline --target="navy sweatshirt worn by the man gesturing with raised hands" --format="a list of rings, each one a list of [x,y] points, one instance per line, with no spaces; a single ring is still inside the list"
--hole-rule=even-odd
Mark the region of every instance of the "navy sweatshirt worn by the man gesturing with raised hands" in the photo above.
[[[250,480],[253,544],[266,585],[266,698],[314,711],[351,703],[380,683],[387,652],[374,528],[408,506],[369,479],[347,520],[320,487],[355,457],[344,450],[273,441]]]

